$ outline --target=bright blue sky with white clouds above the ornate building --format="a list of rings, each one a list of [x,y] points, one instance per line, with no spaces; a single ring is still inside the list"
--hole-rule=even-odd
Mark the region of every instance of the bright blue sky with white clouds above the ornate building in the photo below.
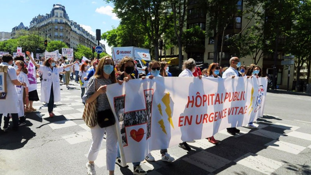
[[[53,4],[65,6],[69,19],[82,25],[94,36],[96,29],[103,33],[119,25],[119,19],[111,12],[113,4],[103,0],[0,0],[0,4],[0,32],[11,32],[21,22],[29,26],[33,17],[50,13]],[[107,43],[101,42],[105,44],[107,53],[111,54]]]

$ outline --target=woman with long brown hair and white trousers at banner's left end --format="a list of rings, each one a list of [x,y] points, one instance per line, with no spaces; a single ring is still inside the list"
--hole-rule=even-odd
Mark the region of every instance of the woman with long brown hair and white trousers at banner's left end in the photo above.
[[[117,83],[114,72],[114,61],[110,56],[101,58],[94,76],[89,79],[87,83],[86,92],[82,97],[82,100],[86,103],[91,103],[97,99],[97,111],[104,111],[110,109],[108,97],[106,95],[107,85]],[[109,175],[114,174],[114,164],[117,157],[117,131],[115,126],[108,126],[101,128],[96,125],[91,128],[92,133],[92,145],[89,150],[88,159],[86,163],[87,174],[96,174],[94,161],[100,151],[100,147],[106,132],[106,166],[109,170]]]

